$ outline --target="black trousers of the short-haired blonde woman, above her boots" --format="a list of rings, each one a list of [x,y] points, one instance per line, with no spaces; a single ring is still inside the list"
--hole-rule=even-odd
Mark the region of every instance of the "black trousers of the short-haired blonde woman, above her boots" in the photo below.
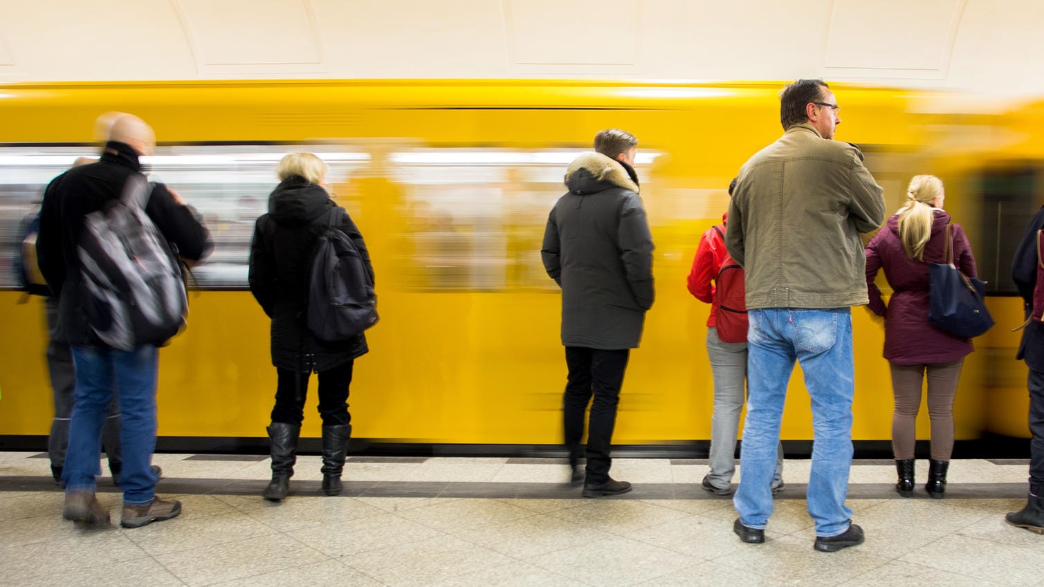
[[[319,372],[319,416],[323,425],[333,426],[352,422],[348,413],[348,388],[352,383],[352,367],[349,361],[328,371]],[[308,378],[311,371],[276,368],[279,383],[276,386],[276,407],[271,409],[271,421],[301,425],[305,419],[305,397],[308,395]],[[300,380],[299,380],[300,374]]]

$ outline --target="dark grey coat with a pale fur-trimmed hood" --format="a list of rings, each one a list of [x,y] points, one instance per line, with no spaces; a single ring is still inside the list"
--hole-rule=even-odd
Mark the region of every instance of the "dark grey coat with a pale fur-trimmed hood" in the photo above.
[[[635,348],[651,308],[652,236],[633,170],[599,153],[569,166],[541,255],[562,287],[562,344]]]

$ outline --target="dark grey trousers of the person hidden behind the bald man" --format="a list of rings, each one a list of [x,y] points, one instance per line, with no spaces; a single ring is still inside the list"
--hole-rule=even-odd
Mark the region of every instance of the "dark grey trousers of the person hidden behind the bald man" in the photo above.
[[[72,364],[72,351],[69,345],[58,342],[55,337],[57,326],[58,300],[47,298],[47,331],[50,342],[47,343],[47,371],[51,376],[51,391],[54,394],[54,420],[51,421],[51,434],[47,437],[47,456],[51,460],[52,469],[65,466],[65,454],[69,448],[69,418],[72,416],[73,391],[76,389],[76,370]],[[116,393],[109,407],[109,417],[101,429],[101,446],[109,457],[109,468],[119,473],[122,465],[120,451],[120,407]],[[98,471],[100,474],[101,471]]]

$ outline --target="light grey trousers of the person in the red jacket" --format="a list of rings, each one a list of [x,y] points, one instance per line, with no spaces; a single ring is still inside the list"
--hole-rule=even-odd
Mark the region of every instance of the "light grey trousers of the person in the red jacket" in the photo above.
[[[727,489],[736,472],[736,437],[739,414],[746,402],[746,343],[721,342],[717,328],[707,328],[707,357],[714,376],[714,415],[711,416],[711,471],[708,481]],[[773,487],[783,481],[783,442],[778,447]]]

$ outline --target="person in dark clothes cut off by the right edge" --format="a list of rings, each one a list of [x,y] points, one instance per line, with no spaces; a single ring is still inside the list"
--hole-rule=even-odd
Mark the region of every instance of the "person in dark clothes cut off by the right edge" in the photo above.
[[[1044,244],[1044,207],[1034,216],[1025,236],[1015,249],[1012,279],[1019,288],[1025,307],[1026,324],[1022,331],[1017,359],[1029,368],[1029,496],[1018,512],[1005,516],[1007,523],[1044,534],[1044,274],[1041,272]]]

